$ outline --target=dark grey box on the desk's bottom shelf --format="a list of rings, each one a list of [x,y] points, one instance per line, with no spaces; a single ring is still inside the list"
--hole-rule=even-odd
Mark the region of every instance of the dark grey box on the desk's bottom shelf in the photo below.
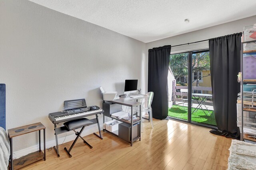
[[[140,134],[140,123],[134,124],[132,126],[132,139],[136,138]],[[131,131],[131,125],[126,123],[120,123],[118,124],[118,137],[130,142],[130,131]]]

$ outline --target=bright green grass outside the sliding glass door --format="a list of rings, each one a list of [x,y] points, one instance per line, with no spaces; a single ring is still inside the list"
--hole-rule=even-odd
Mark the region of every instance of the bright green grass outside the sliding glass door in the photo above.
[[[192,110],[193,109],[194,108],[192,108]],[[207,110],[205,111],[207,115],[205,115],[202,109],[198,109],[196,112],[192,114],[191,121],[202,123],[202,124],[208,124],[212,126],[217,126],[213,110],[209,110],[209,111],[211,115],[207,114],[208,112]],[[184,106],[183,108],[182,106],[173,105],[172,108],[168,109],[168,116],[183,119],[183,120],[188,120],[188,107]]]

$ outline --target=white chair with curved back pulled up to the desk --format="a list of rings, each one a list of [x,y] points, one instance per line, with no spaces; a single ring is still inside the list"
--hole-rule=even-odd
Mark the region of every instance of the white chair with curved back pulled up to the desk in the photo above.
[[[148,92],[147,95],[148,95],[148,98],[144,98],[144,102],[142,102],[142,104],[141,104],[141,114],[143,116],[144,115],[143,113],[146,113],[146,112],[148,113],[148,117],[150,119],[151,126],[152,126],[152,128],[154,128],[152,108],[151,108],[151,104],[152,104],[153,97],[154,97],[154,92]],[[134,109],[139,110],[140,108],[134,108]],[[143,130],[143,124],[141,123],[141,125],[142,125],[142,130]]]

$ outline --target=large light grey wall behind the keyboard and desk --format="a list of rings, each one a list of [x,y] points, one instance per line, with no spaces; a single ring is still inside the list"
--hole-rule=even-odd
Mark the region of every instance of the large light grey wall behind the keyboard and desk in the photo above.
[[[46,140],[52,141],[54,126],[48,114],[61,111],[64,100],[85,98],[88,106],[102,106],[99,87],[123,94],[125,79],[138,79],[138,88],[145,92],[145,47],[143,42],[33,2],[0,0],[6,129],[42,122]],[[86,128],[95,130],[96,125]],[[38,144],[37,136],[14,138],[14,151]]]

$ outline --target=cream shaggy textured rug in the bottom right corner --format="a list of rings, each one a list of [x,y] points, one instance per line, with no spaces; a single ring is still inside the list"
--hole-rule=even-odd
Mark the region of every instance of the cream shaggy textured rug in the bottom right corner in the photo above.
[[[228,170],[256,170],[256,144],[232,140]]]

